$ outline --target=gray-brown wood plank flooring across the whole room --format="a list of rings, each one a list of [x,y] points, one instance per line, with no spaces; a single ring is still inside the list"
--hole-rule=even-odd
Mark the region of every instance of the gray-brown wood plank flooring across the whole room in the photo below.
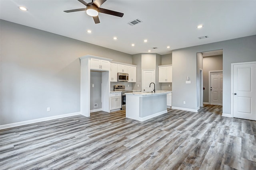
[[[44,121],[0,133],[0,169],[256,170],[256,121],[168,109],[144,122],[125,111]]]

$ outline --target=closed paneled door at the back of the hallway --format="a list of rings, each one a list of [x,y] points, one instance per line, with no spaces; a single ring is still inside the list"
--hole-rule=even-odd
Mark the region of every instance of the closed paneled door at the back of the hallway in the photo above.
[[[223,73],[210,72],[210,104],[222,105]]]

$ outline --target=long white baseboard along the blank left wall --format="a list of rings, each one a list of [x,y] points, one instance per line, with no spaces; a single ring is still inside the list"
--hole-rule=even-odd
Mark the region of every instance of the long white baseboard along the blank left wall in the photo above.
[[[31,123],[38,123],[38,122],[41,122],[41,121],[60,119],[60,118],[76,116],[76,115],[81,115],[80,111],[79,112],[75,112],[75,113],[68,113],[68,114],[64,114],[64,115],[44,117],[44,118],[40,118],[40,119],[33,119],[33,120],[28,120],[28,121],[20,121],[20,122],[10,123],[10,124],[6,124],[6,125],[0,125],[0,129],[6,129],[6,128],[22,126],[22,125],[28,125],[28,124],[31,124]]]

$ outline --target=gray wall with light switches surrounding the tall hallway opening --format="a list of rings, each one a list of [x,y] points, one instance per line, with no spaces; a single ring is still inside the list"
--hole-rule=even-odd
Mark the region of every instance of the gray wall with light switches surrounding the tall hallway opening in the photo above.
[[[196,53],[223,49],[223,113],[231,112],[231,63],[256,61],[256,35],[172,52],[172,106],[196,109]],[[185,84],[190,76],[192,84]],[[183,104],[183,101],[186,104]]]

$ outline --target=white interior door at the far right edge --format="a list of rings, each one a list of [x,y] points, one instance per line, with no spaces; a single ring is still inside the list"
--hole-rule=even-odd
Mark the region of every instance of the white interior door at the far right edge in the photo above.
[[[233,65],[233,117],[256,120],[256,62]]]

